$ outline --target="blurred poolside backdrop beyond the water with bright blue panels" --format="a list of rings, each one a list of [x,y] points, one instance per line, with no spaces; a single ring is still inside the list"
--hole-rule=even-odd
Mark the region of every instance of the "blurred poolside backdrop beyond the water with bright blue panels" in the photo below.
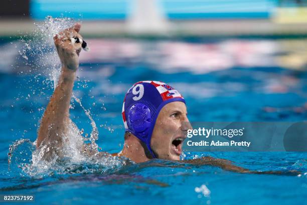
[[[84,35],[305,35],[305,0],[6,0],[1,35],[32,31],[46,16],[83,22]]]

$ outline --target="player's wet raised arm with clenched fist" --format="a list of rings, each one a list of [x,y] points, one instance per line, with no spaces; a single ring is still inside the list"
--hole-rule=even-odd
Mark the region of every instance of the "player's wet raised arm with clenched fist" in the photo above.
[[[82,37],[81,25],[75,24],[54,37],[54,43],[62,63],[61,75],[53,95],[50,98],[38,132],[36,146],[60,148],[69,122],[69,105],[76,71],[79,67],[81,44],[72,44],[70,39]]]

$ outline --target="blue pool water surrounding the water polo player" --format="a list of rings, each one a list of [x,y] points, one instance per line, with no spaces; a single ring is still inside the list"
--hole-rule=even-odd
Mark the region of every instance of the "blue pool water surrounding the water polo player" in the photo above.
[[[306,120],[306,67],[287,60],[290,55],[303,60],[304,50],[297,51],[297,45],[304,39],[87,42],[92,50],[81,53],[74,95],[90,111],[99,131],[97,144],[104,151],[121,150],[122,100],[130,85],[140,80],[166,81],[180,90],[192,122]],[[185,153],[187,159],[213,156],[251,170],[297,170],[300,176],[241,174],[163,160],[126,166],[120,161],[88,160],[63,162],[46,170],[31,167],[32,143],[53,91],[49,74],[54,64],[39,51],[31,55],[21,51],[27,59],[20,55],[24,43],[0,41],[0,194],[34,194],[36,202],[52,204],[306,202],[306,152]],[[84,133],[91,133],[90,120],[75,100],[71,118]],[[9,165],[9,147],[20,139],[30,141],[14,146]]]

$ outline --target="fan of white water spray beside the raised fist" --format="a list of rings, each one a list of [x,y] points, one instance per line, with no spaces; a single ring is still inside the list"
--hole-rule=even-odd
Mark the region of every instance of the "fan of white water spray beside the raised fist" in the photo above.
[[[26,72],[38,72],[54,81],[55,87],[60,74],[61,62],[57,55],[53,37],[62,30],[72,27],[76,22],[70,18],[46,17],[31,34],[22,35],[19,53],[24,58]]]

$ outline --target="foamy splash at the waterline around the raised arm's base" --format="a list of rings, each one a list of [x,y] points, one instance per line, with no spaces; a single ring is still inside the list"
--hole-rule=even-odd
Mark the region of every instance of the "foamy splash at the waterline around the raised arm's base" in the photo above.
[[[98,152],[98,146],[94,141],[95,134],[98,132],[95,131],[92,132],[93,134],[90,137],[93,143],[89,144],[90,150],[93,147],[95,148],[94,154],[83,152],[84,141],[88,141],[88,139],[81,136],[80,130],[72,121],[69,122],[68,126],[69,132],[64,137],[65,144],[61,148],[61,154],[55,152],[47,161],[45,160],[45,154],[50,152],[51,146],[44,145],[36,149],[36,142],[21,139],[10,146],[10,152],[8,153],[9,167],[12,167],[14,172],[22,170],[21,173],[17,173],[18,175],[41,178],[48,175],[112,172],[127,163],[131,163],[124,158]]]

